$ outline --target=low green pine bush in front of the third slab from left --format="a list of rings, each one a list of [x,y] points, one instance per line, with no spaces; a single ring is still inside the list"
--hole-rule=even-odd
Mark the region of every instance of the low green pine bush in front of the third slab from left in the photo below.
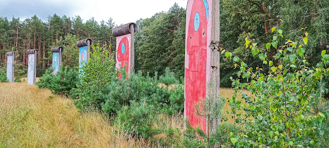
[[[53,75],[52,68],[49,68],[39,82],[35,84],[39,88],[48,88],[52,94],[68,96],[71,89],[77,87],[77,76],[77,69],[74,68],[65,67],[64,70],[58,71],[56,75]]]

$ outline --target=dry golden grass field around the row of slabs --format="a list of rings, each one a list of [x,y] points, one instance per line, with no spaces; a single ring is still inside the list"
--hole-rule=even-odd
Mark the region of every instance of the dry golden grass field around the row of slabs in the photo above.
[[[223,97],[231,98],[233,93],[233,89],[221,89]],[[226,110],[230,110],[228,104],[223,112]],[[167,126],[184,127],[181,115],[159,116],[166,119]],[[157,147],[150,140],[117,131],[121,129],[111,126],[107,117],[80,113],[71,99],[52,95],[50,90],[26,82],[0,83],[0,147]]]

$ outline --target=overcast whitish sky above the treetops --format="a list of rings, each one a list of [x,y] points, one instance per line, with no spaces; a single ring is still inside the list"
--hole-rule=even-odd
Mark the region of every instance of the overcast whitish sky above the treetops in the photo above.
[[[92,17],[98,22],[106,22],[112,17],[120,25],[168,11],[175,3],[186,8],[187,0],[0,0],[0,15],[8,20],[14,15],[21,21],[34,14],[47,21],[48,15],[54,13],[70,17],[80,15],[84,22]]]

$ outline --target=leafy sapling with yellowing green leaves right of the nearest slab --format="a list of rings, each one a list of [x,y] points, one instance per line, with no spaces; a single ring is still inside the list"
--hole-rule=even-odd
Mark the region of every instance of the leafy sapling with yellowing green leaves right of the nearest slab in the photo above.
[[[272,28],[276,34],[266,45],[258,46],[246,33],[245,46],[263,62],[260,67],[248,67],[239,57],[221,49],[227,58],[236,62],[234,67],[240,68],[237,79],[232,79],[235,94],[229,100],[232,116],[239,117],[235,122],[244,127],[240,132],[229,133],[230,142],[236,147],[313,147],[318,145],[315,143],[318,138],[323,139],[324,131],[320,125],[324,125],[328,111],[310,112],[313,105],[324,103],[323,96],[319,95],[323,90],[317,89],[317,84],[329,75],[329,55],[323,50],[322,62],[309,68],[303,48],[308,33],[304,32],[299,42],[286,40],[285,45],[280,46],[278,39],[283,35],[278,27]],[[267,50],[261,50],[262,47],[278,52],[268,57]],[[253,95],[243,94],[244,101],[238,101],[236,94],[242,89],[248,89]],[[244,110],[245,114],[237,114],[241,113],[237,110]]]

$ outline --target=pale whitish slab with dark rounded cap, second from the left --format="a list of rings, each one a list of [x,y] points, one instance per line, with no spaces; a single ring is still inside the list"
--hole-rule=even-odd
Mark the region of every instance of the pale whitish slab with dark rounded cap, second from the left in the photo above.
[[[27,85],[33,85],[36,77],[36,55],[39,53],[39,50],[29,49],[26,53],[28,54]]]

